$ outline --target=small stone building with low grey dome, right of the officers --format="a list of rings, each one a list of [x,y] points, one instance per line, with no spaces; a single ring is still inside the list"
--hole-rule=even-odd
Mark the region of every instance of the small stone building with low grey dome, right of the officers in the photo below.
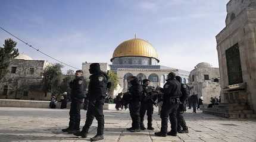
[[[210,98],[220,96],[220,71],[209,63],[199,63],[189,74],[190,93],[203,97],[204,104],[210,104]]]

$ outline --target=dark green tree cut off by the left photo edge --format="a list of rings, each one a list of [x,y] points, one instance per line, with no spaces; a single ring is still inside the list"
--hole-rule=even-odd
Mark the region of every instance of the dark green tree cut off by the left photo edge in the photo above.
[[[18,56],[17,43],[8,38],[4,41],[4,47],[0,47],[0,80],[8,73],[11,60]]]

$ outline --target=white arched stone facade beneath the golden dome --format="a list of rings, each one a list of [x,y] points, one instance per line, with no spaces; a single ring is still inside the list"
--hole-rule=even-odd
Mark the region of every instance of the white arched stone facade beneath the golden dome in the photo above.
[[[84,72],[84,76],[86,79],[89,79],[90,73],[89,68],[92,63],[83,63],[82,70]],[[107,72],[111,70],[111,65],[108,63],[99,63],[101,65],[101,70]],[[132,65],[131,65],[132,66]],[[127,67],[130,67],[129,65]],[[143,67],[143,66],[142,66]],[[164,69],[146,69],[144,68],[138,69],[136,67],[132,68],[117,68],[111,71],[117,73],[118,77],[118,88],[114,91],[114,96],[118,94],[118,92],[126,92],[128,89],[127,77],[129,76],[138,76],[139,79],[149,79],[151,80],[151,86],[162,86],[166,83],[167,75],[170,72],[176,72],[176,75],[179,75],[183,79],[183,83],[188,83],[188,75],[189,72],[185,70],[173,69],[170,67],[166,67]],[[160,67],[160,66],[158,66]]]

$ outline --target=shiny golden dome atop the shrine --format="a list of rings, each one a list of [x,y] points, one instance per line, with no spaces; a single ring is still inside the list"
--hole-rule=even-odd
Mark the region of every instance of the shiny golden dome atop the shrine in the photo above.
[[[127,56],[152,57],[157,59],[159,62],[158,54],[154,47],[148,43],[148,41],[142,40],[140,38],[133,38],[119,44],[113,53],[113,58],[111,61],[115,57]]]

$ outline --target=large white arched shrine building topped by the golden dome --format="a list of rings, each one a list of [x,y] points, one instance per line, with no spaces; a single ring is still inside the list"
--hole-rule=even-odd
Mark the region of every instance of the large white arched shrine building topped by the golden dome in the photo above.
[[[139,80],[151,80],[151,86],[163,86],[167,75],[176,72],[181,76],[184,83],[188,83],[189,72],[172,67],[161,66],[159,64],[157,51],[148,43],[140,38],[126,40],[119,44],[114,50],[113,57],[110,59],[112,64],[104,65],[104,70],[117,73],[120,88],[117,92],[126,92],[129,87],[128,80],[131,76],[137,76]],[[83,63],[85,76],[89,76],[88,70],[90,63]],[[103,63],[102,63],[103,64]],[[105,63],[107,64],[107,63]],[[114,93],[117,95],[117,93]]]

